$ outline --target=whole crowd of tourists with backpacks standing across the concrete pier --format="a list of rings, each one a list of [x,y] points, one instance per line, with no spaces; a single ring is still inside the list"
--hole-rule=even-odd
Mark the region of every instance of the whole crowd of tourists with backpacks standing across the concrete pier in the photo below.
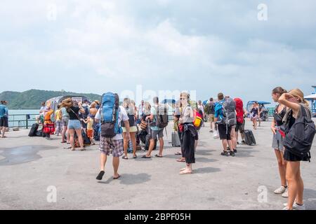
[[[287,92],[283,87],[272,90],[272,99],[277,103],[271,124],[272,148],[275,151],[281,186],[275,194],[287,197],[284,209],[305,209],[303,204],[303,179],[301,161],[310,161],[310,148],[315,135],[312,113],[305,101],[303,92],[298,89]],[[5,137],[8,127],[7,102],[0,104],[1,137]],[[113,156],[113,179],[119,179],[119,158],[129,160],[138,158],[138,149],[146,153],[141,159],[152,158],[152,151],[159,150],[155,158],[164,158],[164,130],[169,125],[169,106],[159,103],[154,97],[152,102],[142,101],[139,106],[129,98],[119,103],[118,94],[107,92],[101,102],[76,102],[64,99],[54,111],[49,104],[42,104],[40,120],[46,139],[51,134],[61,135],[61,144],[69,144],[72,151],[85,150],[87,144],[99,141],[100,172],[96,179],[103,179],[107,156]],[[256,144],[251,130],[245,130],[246,120],[254,130],[261,125],[262,109],[254,102],[249,111],[244,109],[240,98],[225,96],[219,92],[217,99],[210,98],[206,104],[192,102],[190,94],[182,92],[175,104],[173,113],[172,144],[180,146],[178,162],[185,166],[179,174],[192,174],[199,132],[209,123],[209,132],[214,139],[220,139],[223,152],[220,155],[235,157],[239,144]],[[241,141],[239,142],[239,134]],[[177,143],[178,142],[178,143]]]

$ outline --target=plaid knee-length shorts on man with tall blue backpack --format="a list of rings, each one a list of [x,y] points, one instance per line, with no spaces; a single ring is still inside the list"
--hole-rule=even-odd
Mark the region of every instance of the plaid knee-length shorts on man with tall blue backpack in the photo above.
[[[110,155],[110,153],[112,153],[113,157],[120,157],[124,153],[123,139],[113,140],[100,137],[99,149],[101,153],[105,153],[106,155]]]

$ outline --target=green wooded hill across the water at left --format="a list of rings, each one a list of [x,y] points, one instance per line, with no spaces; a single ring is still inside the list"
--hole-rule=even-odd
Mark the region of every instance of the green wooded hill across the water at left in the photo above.
[[[8,109],[39,109],[41,102],[53,97],[60,97],[65,95],[85,96],[91,101],[100,100],[99,94],[93,93],[76,93],[65,91],[47,91],[47,90],[27,90],[25,92],[6,91],[0,93],[0,100],[8,101]]]

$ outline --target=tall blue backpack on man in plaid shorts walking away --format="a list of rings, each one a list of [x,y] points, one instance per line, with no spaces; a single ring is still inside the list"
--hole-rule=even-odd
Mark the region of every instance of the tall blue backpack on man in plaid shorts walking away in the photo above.
[[[102,96],[101,103],[101,133],[105,138],[113,138],[121,134],[119,125],[119,95],[107,92]]]

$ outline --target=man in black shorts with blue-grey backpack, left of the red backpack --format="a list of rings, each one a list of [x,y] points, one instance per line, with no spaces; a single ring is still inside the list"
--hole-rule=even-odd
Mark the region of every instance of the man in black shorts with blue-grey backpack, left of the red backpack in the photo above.
[[[232,100],[232,102],[234,101]],[[230,110],[230,103],[231,102],[228,102],[227,99],[224,99],[224,94],[222,92],[218,93],[218,104],[216,104],[215,106],[215,122],[218,124],[218,133],[220,136],[220,140],[222,140],[224,149],[223,153],[221,153],[220,155],[225,156],[235,156],[230,132],[232,130],[232,126],[236,123],[236,113],[235,109],[234,111]],[[230,154],[228,154],[227,151],[228,145],[230,146]]]

